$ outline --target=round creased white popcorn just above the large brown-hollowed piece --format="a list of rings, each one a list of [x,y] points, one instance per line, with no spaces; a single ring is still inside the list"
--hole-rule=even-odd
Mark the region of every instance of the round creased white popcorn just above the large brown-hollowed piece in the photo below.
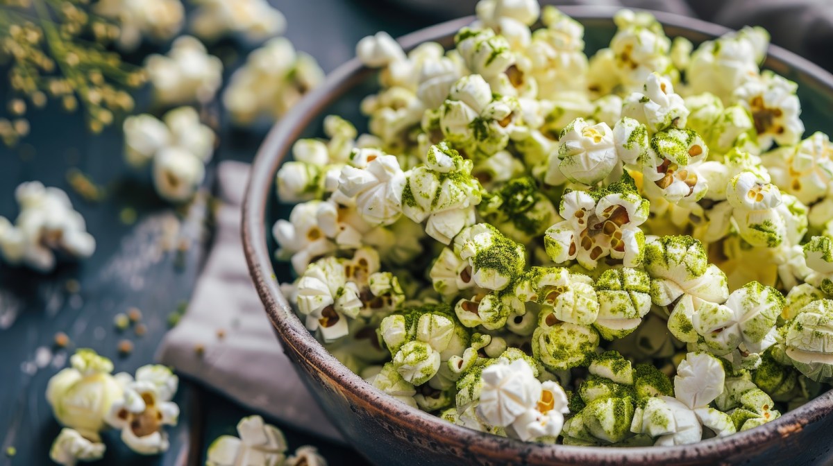
[[[611,127],[603,122],[591,126],[576,118],[561,131],[558,159],[561,173],[574,183],[594,185],[604,180],[619,163]]]

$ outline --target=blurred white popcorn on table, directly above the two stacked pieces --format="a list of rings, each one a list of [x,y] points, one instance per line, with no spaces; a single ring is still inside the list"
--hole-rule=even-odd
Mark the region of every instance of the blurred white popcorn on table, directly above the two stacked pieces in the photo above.
[[[145,60],[153,97],[163,105],[209,102],[222,83],[222,62],[195,37],[177,37],[167,56]]]

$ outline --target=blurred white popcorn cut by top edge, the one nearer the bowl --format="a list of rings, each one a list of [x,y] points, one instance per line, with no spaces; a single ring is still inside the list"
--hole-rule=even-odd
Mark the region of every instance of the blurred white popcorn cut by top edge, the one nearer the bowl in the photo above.
[[[197,37],[215,41],[227,34],[241,34],[250,41],[281,35],[287,18],[267,0],[197,0],[191,29]]]

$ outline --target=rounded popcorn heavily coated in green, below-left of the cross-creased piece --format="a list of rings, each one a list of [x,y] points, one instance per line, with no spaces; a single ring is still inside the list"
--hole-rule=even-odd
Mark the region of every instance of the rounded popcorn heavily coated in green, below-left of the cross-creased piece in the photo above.
[[[552,315],[550,315],[552,316]],[[590,364],[599,345],[599,334],[589,325],[568,322],[539,325],[532,333],[532,355],[548,370],[564,370]]]

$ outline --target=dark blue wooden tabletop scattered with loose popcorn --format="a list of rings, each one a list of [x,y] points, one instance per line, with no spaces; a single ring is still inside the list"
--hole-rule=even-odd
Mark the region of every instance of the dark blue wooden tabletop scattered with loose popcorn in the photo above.
[[[271,2],[287,17],[287,37],[298,50],[316,57],[325,72],[353,57],[356,42],[367,34],[386,30],[397,36],[436,22],[435,18],[402,12],[377,0]],[[227,41],[211,51],[229,61],[227,78],[249,48]],[[136,58],[141,60],[138,55]],[[5,74],[2,76],[0,96],[5,97],[8,87]],[[139,112],[149,107],[145,97],[147,92],[138,94]],[[47,380],[64,367],[72,349],[95,349],[113,359],[117,372],[132,373],[153,361],[167,331],[167,317],[189,299],[210,247],[204,206],[192,206],[182,215],[160,201],[149,177],[125,166],[120,126],[92,136],[85,131],[81,115],[67,114],[51,104],[43,110],[30,110],[27,118],[31,135],[11,149],[0,144],[0,216],[13,221],[17,216],[15,187],[22,181],[38,180],[67,191],[86,219],[87,230],[97,240],[92,258],[78,265],[61,266],[52,274],[0,265],[2,466],[52,464],[48,450],[60,427],[45,399]],[[211,186],[216,161],[251,161],[268,129],[232,130],[222,113],[219,121],[221,144],[208,169],[207,187]],[[88,202],[72,191],[67,183],[67,170],[72,167],[106,186],[106,198]],[[120,221],[125,208],[137,212],[134,223]],[[181,244],[189,247],[178,250]],[[136,335],[132,329],[119,332],[114,327],[113,317],[131,307],[142,310],[145,335]],[[71,340],[67,349],[53,345],[59,331]],[[132,353],[119,355],[117,346],[122,340],[132,342]],[[132,454],[120,445],[118,433],[113,431],[104,436],[107,455],[97,464],[204,464],[207,444],[220,434],[236,434],[237,421],[252,414],[185,379],[175,401],[182,415],[177,427],[168,430],[171,449],[166,454]],[[302,444],[314,444],[332,465],[363,464],[351,449],[267,420],[284,429],[290,452]],[[7,457],[8,447],[16,449],[17,454]]]

